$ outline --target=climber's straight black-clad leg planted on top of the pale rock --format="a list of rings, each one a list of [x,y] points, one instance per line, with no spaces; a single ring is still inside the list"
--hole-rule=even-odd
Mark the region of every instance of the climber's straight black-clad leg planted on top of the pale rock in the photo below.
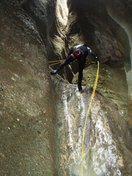
[[[83,79],[83,69],[84,69],[85,61],[86,60],[84,58],[78,59],[78,64],[79,64],[78,89],[79,91],[82,91],[82,79]]]

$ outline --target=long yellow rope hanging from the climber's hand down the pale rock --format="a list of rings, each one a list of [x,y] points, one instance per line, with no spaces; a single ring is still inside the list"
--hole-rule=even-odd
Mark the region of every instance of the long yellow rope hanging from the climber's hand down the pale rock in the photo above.
[[[82,156],[82,161],[81,161],[81,172],[80,175],[83,176],[83,160],[84,160],[84,155],[85,155],[85,151],[84,151],[84,141],[85,141],[85,135],[86,135],[86,127],[87,127],[87,121],[88,121],[88,117],[89,117],[89,113],[92,107],[92,102],[94,100],[94,96],[95,96],[95,91],[97,88],[97,83],[98,83],[98,77],[99,77],[99,61],[98,61],[98,67],[97,67],[97,72],[96,72],[96,78],[94,81],[94,86],[93,86],[93,92],[90,98],[90,103],[86,112],[86,118],[85,118],[85,122],[84,122],[84,128],[83,128],[83,136],[82,136],[82,152],[81,152],[81,156]]]

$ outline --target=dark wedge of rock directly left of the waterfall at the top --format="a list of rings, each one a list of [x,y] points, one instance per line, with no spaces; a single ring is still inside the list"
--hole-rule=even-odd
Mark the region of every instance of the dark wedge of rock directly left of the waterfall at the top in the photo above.
[[[36,21],[37,28],[47,48],[48,36],[54,21],[55,2],[53,0],[32,0],[22,4],[23,9]]]

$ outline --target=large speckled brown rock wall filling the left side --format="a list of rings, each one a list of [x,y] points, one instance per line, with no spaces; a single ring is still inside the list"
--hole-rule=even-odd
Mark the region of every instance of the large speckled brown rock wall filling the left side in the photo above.
[[[44,44],[18,5],[0,2],[0,26],[0,175],[56,175]]]

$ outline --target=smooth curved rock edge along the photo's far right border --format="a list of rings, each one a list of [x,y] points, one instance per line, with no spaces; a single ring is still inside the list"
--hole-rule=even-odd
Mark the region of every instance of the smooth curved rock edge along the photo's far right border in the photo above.
[[[132,1],[108,1],[107,11],[109,15],[115,20],[126,32],[129,41],[130,47],[130,62],[129,65],[132,66],[132,23],[130,16],[132,15]],[[129,116],[130,124],[132,126],[132,111],[131,111],[131,102],[132,102],[132,69],[127,70],[127,82],[128,82],[128,94],[129,94]]]

